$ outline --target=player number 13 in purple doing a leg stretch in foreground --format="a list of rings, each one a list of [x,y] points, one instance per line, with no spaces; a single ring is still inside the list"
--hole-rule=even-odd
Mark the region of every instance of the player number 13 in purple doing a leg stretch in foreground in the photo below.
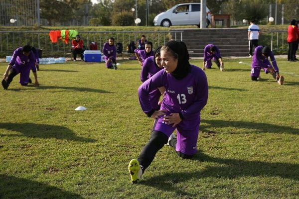
[[[169,41],[161,50],[161,70],[138,89],[143,111],[155,119],[149,142],[138,159],[129,163],[132,183],[138,183],[158,150],[164,144],[173,147],[181,158],[196,154],[200,111],[208,100],[208,83],[205,73],[189,64],[189,54],[184,42]],[[150,103],[150,92],[164,87],[166,92],[160,110]],[[176,129],[177,138],[173,134]]]

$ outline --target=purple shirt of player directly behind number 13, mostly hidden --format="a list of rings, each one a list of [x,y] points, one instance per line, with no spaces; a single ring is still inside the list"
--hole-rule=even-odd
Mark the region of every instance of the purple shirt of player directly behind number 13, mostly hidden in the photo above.
[[[154,74],[156,74],[157,72],[159,72],[162,69],[164,69],[164,68],[163,67],[159,68],[154,64],[154,57],[150,56],[145,60],[145,62],[143,64],[143,67],[141,69],[140,80],[142,82],[145,82],[151,76],[153,76]]]

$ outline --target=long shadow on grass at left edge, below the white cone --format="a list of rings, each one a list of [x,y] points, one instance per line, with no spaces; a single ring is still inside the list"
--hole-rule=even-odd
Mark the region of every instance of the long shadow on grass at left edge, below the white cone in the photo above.
[[[34,124],[34,123],[0,123],[0,129],[10,131],[18,131],[27,137],[36,138],[56,138],[73,140],[78,142],[95,142],[91,138],[78,137],[69,128],[49,124]],[[0,134],[1,136],[21,136],[18,134]]]

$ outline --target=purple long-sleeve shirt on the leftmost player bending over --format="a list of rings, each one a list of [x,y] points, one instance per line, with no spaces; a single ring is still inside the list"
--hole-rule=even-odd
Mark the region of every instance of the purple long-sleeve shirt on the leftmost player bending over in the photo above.
[[[13,52],[9,65],[12,66],[17,73],[19,73],[21,67],[28,67],[31,68],[33,72],[36,72],[35,62],[36,59],[32,51],[30,51],[29,56],[25,56],[22,52],[22,47],[19,47]]]

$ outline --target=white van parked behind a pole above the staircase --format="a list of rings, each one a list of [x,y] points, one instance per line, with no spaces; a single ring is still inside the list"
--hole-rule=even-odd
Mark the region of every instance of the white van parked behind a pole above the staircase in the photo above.
[[[210,10],[206,8],[207,19],[210,19]],[[180,3],[165,12],[159,13],[153,19],[155,26],[169,27],[171,25],[198,25],[200,26],[200,3]]]

